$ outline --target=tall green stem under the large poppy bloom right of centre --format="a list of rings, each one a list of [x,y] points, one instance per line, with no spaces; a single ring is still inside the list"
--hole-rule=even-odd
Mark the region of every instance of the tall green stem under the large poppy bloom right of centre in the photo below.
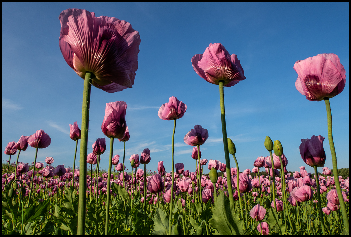
[[[228,140],[227,140],[227,128],[226,128],[226,123],[225,123],[223,81],[219,81],[219,101],[220,101],[220,114],[221,114],[221,121],[222,121],[225,167],[226,167],[226,172],[227,172],[228,196],[229,196],[230,205],[234,206],[233,187],[232,187],[232,180],[231,180],[231,174],[230,174],[230,158],[229,158],[229,149],[228,149]],[[238,174],[239,174],[239,169],[238,169]],[[240,193],[238,193],[238,195],[240,198]],[[240,206],[241,206],[241,203],[240,203]],[[243,213],[243,212],[241,212],[241,213]],[[243,217],[243,215],[241,215],[241,217]]]

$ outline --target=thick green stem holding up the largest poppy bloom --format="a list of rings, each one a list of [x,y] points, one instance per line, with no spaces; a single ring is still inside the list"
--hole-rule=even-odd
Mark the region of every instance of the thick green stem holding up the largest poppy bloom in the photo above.
[[[86,72],[84,79],[83,104],[82,104],[82,130],[79,158],[79,197],[78,197],[78,229],[77,235],[85,234],[86,215],[86,182],[87,182],[87,147],[89,129],[89,107],[92,73]],[[74,172],[74,171],[73,171]]]

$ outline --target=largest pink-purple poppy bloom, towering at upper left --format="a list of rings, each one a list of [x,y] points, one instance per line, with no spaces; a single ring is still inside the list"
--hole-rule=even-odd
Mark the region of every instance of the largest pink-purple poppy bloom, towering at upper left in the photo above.
[[[109,93],[132,87],[140,36],[130,23],[81,9],[67,9],[59,19],[61,53],[80,77],[93,73],[93,86]]]

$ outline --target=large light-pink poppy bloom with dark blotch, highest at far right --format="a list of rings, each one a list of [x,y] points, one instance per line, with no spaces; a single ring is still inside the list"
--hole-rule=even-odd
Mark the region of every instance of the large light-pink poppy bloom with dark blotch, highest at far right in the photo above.
[[[343,91],[346,83],[344,66],[336,54],[318,54],[295,63],[296,89],[307,100],[321,101]]]

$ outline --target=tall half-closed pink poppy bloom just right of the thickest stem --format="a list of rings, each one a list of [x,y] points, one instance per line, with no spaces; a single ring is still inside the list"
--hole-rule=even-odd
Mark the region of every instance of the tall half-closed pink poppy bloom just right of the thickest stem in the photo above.
[[[102,133],[107,137],[122,138],[125,134],[127,103],[116,101],[106,103],[105,117],[101,124]]]

